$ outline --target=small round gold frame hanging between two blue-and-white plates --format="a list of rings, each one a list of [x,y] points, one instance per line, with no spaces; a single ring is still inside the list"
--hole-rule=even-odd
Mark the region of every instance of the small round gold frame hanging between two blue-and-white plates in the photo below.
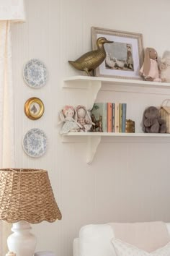
[[[44,114],[44,104],[40,98],[29,98],[24,103],[24,113],[31,120],[40,119],[42,114]]]

